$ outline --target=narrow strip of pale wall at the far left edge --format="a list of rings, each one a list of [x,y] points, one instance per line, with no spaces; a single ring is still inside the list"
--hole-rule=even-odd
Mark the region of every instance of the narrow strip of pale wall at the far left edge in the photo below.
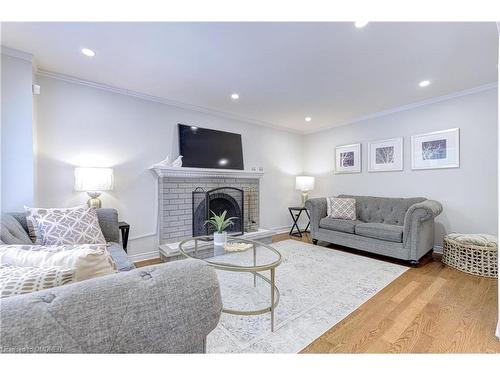
[[[26,58],[1,54],[1,210],[23,210],[34,196],[33,69]]]

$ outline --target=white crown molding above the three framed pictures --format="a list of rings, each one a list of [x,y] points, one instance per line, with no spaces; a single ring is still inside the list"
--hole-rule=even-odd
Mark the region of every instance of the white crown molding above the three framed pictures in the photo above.
[[[354,124],[356,122],[361,122],[361,121],[365,121],[365,120],[371,120],[371,119],[378,118],[378,117],[384,117],[384,116],[391,115],[393,113],[404,112],[404,111],[408,111],[410,109],[414,109],[414,108],[418,108],[418,107],[423,107],[423,106],[426,106],[426,105],[429,105],[429,104],[444,102],[446,100],[460,98],[462,96],[472,95],[472,94],[476,94],[476,93],[482,92],[482,91],[492,90],[492,89],[495,89],[497,87],[498,87],[498,83],[497,82],[491,82],[491,83],[487,83],[485,85],[472,87],[470,89],[456,91],[456,92],[453,92],[451,94],[436,96],[436,97],[433,97],[433,98],[430,98],[430,99],[425,99],[425,100],[422,100],[422,101],[419,101],[419,102],[405,104],[405,105],[402,105],[402,106],[399,106],[399,107],[394,107],[394,108],[386,109],[384,111],[371,113],[371,114],[366,115],[366,116],[357,117],[357,118],[352,119],[352,120],[348,120],[348,121],[345,121],[345,122],[333,124],[333,125],[326,126],[326,127],[323,127],[323,128],[319,128],[319,129],[315,129],[315,130],[310,130],[310,131],[305,131],[303,134],[321,133],[323,131],[331,130],[331,129],[338,128],[338,127],[341,127],[341,126],[352,125],[352,124]]]

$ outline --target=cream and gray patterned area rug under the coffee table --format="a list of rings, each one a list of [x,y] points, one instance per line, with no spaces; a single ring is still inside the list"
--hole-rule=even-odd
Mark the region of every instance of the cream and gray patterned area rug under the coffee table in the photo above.
[[[276,269],[281,298],[274,332],[269,313],[223,313],[208,335],[209,353],[297,353],[408,270],[295,240],[272,246],[283,259]],[[227,255],[231,256],[235,254]],[[247,273],[217,271],[217,275],[225,307],[258,309],[269,304],[270,286],[259,278],[254,287],[253,276]]]

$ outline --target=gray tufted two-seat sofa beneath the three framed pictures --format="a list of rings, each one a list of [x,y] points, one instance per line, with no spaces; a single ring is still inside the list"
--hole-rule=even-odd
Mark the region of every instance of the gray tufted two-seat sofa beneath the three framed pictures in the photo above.
[[[309,199],[311,236],[336,245],[408,260],[417,266],[434,246],[434,218],[443,208],[426,198],[380,198],[339,195],[356,199],[356,220],[327,217],[326,198]]]

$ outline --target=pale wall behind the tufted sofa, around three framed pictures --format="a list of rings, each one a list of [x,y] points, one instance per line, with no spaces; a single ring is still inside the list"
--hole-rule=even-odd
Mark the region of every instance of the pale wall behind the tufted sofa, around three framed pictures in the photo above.
[[[411,170],[411,135],[460,128],[460,168]],[[404,137],[404,171],[368,173],[371,140]],[[333,174],[335,146],[362,143],[362,173]],[[311,196],[341,193],[387,197],[424,196],[443,204],[437,245],[443,234],[497,233],[497,90],[429,104],[311,134],[305,140],[305,170],[318,176]]]

